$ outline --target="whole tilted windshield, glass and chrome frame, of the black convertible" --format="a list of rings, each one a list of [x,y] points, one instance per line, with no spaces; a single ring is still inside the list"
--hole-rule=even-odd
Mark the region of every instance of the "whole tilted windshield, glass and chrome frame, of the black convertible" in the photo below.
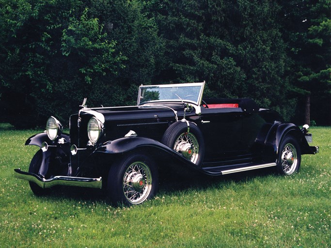
[[[138,105],[151,102],[190,102],[200,105],[205,83],[140,86]]]

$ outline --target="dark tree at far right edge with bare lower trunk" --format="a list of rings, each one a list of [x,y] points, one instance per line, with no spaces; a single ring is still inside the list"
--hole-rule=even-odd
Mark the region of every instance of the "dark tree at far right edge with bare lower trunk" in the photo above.
[[[331,124],[330,0],[280,0],[287,43],[291,97],[299,99],[296,121]],[[311,105],[311,109],[310,109]],[[310,116],[310,118],[309,118]]]

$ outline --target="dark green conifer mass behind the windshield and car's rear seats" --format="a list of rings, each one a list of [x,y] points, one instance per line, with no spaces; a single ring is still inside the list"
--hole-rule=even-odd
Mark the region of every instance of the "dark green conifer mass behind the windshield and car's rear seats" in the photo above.
[[[166,43],[162,79],[205,80],[210,96],[252,97],[287,117],[286,61],[274,1],[147,1]],[[284,108],[285,105],[285,108]]]

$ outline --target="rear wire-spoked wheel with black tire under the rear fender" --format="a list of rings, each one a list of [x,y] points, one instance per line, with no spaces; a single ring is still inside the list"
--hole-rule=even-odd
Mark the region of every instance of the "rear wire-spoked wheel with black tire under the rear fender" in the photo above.
[[[277,171],[283,175],[298,172],[301,163],[301,150],[298,141],[285,136],[278,149]]]

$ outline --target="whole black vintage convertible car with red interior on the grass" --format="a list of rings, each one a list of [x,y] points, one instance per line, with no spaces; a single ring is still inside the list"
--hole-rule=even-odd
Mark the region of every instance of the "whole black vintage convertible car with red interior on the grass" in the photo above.
[[[300,130],[251,99],[204,99],[205,82],[140,86],[137,106],[87,108],[70,117],[70,135],[50,117],[26,141],[40,150],[29,171],[35,195],[56,185],[103,188],[114,203],[139,204],[158,188],[159,169],[211,176],[260,168],[290,175],[318,147]],[[163,170],[164,171],[164,170]]]

